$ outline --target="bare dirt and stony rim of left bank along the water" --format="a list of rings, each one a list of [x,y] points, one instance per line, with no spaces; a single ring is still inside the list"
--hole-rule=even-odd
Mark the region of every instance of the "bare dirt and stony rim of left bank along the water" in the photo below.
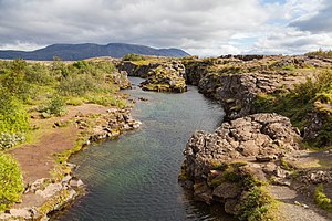
[[[0,214],[1,220],[44,219],[72,202],[84,193],[84,185],[72,176],[76,166],[68,162],[71,155],[141,125],[132,119],[129,109],[94,104],[72,106],[63,117],[34,118],[31,123],[39,128],[33,135],[37,141],[9,151],[21,166],[24,194],[20,203]]]

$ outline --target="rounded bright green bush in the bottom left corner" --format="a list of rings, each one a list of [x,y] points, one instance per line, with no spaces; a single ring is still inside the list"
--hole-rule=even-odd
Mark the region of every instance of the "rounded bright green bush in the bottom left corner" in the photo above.
[[[9,155],[0,154],[0,211],[18,202],[24,190],[18,162]]]

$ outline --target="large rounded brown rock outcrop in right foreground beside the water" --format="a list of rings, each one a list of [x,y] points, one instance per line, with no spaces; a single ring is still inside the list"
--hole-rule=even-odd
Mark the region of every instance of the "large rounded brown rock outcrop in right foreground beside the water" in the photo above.
[[[215,133],[196,131],[186,145],[179,180],[197,200],[219,201],[239,215],[252,186],[289,172],[282,158],[299,151],[301,140],[287,117],[255,114],[224,123]],[[248,185],[251,183],[251,185]]]

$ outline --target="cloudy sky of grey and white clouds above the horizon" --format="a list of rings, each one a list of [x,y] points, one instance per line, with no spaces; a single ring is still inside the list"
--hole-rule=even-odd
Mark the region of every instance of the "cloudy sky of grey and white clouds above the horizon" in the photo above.
[[[0,0],[0,49],[135,43],[191,54],[332,49],[330,0]]]

